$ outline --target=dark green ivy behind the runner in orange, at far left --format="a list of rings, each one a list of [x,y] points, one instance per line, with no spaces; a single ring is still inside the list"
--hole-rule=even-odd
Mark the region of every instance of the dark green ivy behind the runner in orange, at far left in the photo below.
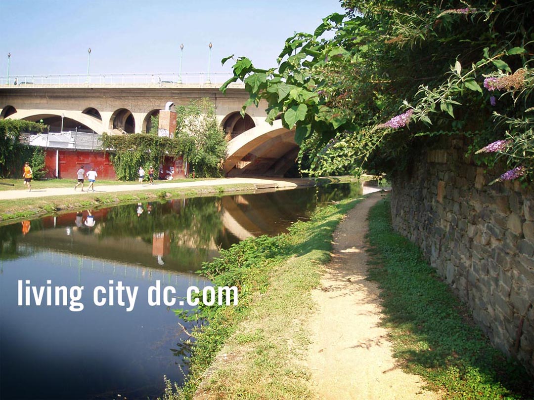
[[[32,166],[35,179],[44,177],[44,151],[20,143],[20,134],[36,134],[45,129],[46,125],[36,122],[0,119],[0,177],[9,178],[13,173],[17,178],[22,177],[22,167],[26,161]]]

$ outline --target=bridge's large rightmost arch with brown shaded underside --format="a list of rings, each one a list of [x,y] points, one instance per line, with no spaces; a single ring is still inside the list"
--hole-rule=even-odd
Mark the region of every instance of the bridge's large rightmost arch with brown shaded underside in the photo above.
[[[227,177],[284,176],[299,154],[295,131],[284,127],[261,134],[254,131],[244,132],[229,142],[224,173]]]

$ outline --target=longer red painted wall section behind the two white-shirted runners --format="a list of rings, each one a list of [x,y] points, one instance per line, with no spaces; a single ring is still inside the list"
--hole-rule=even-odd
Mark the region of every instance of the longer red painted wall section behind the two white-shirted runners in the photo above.
[[[56,150],[46,149],[45,164],[48,178],[56,177]],[[58,150],[59,178],[77,179],[76,171],[83,165],[85,171],[95,167],[98,179],[116,180],[117,175],[113,164],[109,161],[109,153],[100,151]]]

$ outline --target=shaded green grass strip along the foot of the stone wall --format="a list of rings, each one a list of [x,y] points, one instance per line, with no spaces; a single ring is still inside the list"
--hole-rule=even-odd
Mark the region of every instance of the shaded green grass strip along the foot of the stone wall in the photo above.
[[[447,399],[532,398],[532,378],[523,367],[490,345],[419,248],[394,233],[387,200],[370,212],[368,241],[383,326],[408,372]]]

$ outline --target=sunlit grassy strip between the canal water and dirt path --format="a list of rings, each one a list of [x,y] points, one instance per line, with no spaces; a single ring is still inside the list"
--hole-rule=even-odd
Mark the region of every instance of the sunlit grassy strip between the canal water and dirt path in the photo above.
[[[195,333],[188,381],[175,390],[167,381],[165,400],[192,398],[200,382],[210,398],[313,397],[304,362],[311,289],[330,259],[335,227],[355,203],[322,207],[288,234],[247,239],[205,268],[217,284],[241,287],[239,306],[219,308]]]

